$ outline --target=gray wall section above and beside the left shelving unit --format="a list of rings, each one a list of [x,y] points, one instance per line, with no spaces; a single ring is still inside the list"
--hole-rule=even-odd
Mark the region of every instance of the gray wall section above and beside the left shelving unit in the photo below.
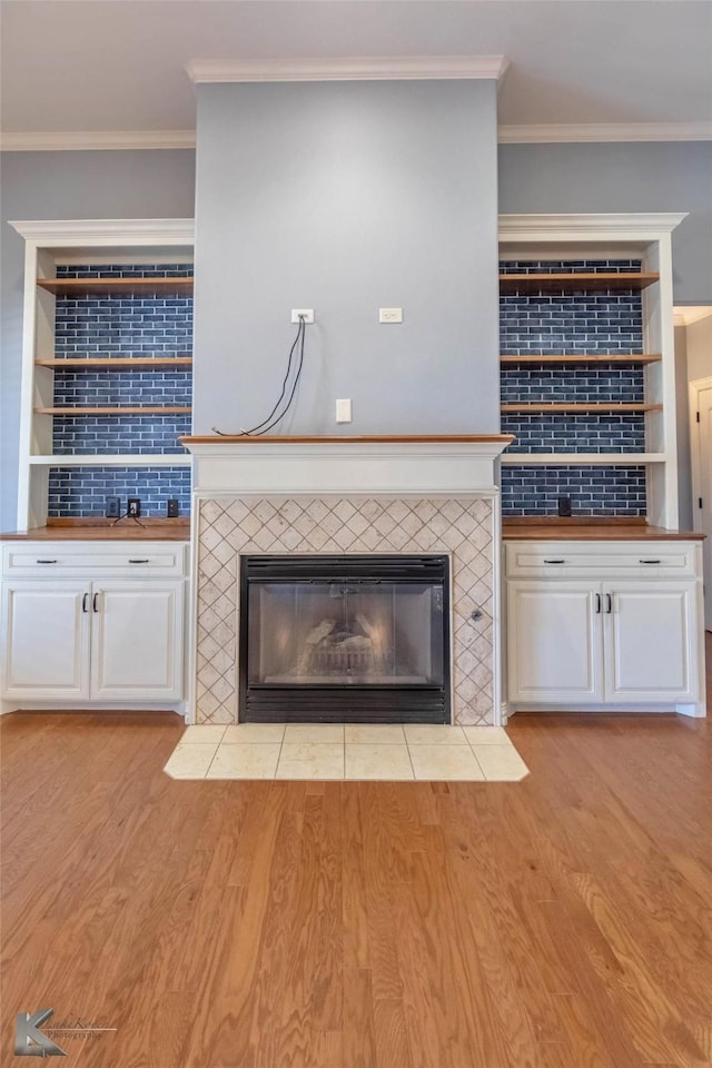
[[[3,152],[0,530],[14,530],[24,241],[8,219],[192,218],[192,151]]]

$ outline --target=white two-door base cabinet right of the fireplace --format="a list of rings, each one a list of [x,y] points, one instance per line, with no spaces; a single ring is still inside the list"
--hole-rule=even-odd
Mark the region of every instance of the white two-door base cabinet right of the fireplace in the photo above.
[[[505,558],[513,709],[704,714],[699,543],[512,542]]]

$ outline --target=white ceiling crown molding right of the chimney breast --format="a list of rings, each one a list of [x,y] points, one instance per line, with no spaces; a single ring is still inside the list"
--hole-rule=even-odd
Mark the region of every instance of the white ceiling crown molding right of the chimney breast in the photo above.
[[[711,141],[712,122],[585,122],[501,126],[501,145],[567,141]]]

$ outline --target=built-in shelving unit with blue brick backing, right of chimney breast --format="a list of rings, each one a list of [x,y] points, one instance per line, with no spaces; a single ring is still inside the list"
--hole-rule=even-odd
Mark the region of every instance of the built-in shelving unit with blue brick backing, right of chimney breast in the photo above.
[[[572,490],[576,514],[576,479],[580,506],[595,510],[607,478],[611,515],[676,526],[671,235],[682,218],[501,217],[502,429],[517,437],[502,457],[503,501],[522,501],[505,514],[556,514]]]

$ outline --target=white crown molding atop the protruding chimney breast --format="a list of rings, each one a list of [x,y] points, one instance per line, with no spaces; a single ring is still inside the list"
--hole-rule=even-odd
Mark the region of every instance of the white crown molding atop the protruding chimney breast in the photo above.
[[[394,81],[488,78],[498,81],[506,56],[367,56],[340,59],[260,59],[228,62],[194,59],[186,65],[196,85],[241,81]]]

